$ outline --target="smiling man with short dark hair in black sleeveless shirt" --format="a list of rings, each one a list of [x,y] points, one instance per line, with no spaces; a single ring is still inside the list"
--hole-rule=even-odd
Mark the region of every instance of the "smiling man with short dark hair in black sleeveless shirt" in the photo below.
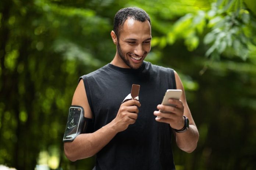
[[[118,11],[111,37],[117,48],[114,59],[82,76],[72,100],[93,120],[94,132],[64,143],[65,155],[75,161],[96,154],[96,170],[175,169],[171,131],[186,152],[196,148],[199,138],[182,82],[174,70],[143,61],[152,39],[145,11]],[[141,85],[139,101],[122,103],[132,84]],[[166,90],[176,88],[183,94],[180,100],[169,100],[175,107],[161,105]]]

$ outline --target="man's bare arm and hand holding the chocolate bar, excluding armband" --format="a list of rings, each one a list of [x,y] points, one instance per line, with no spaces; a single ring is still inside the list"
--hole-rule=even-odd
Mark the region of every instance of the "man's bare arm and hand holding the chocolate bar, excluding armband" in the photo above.
[[[82,106],[85,117],[93,117],[82,80],[75,90],[72,105]],[[106,126],[103,126],[94,133],[79,134],[72,142],[65,142],[64,152],[67,158],[71,161],[75,161],[95,155],[100,149],[107,145],[118,132],[127,129],[130,124],[135,123],[139,112],[137,106],[140,106],[139,101],[127,101],[121,104],[116,118]]]

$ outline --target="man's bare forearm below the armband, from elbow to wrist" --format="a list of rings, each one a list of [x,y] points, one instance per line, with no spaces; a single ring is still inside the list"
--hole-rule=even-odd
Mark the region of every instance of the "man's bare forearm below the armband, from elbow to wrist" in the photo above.
[[[64,143],[65,155],[71,161],[88,158],[100,151],[117,134],[110,122],[94,133],[79,134],[74,141]]]

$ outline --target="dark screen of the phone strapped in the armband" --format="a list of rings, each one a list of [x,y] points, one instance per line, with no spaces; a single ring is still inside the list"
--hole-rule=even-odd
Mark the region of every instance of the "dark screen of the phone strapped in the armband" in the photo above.
[[[72,139],[76,136],[79,122],[81,117],[81,109],[80,108],[70,108],[70,112],[68,114],[67,126],[65,129],[64,139],[68,140]]]

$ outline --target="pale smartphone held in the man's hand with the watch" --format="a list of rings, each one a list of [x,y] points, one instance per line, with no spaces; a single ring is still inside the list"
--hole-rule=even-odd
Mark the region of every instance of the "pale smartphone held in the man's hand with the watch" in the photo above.
[[[164,95],[164,98],[163,98],[163,101],[162,101],[161,104],[167,105],[167,106],[173,106],[172,104],[170,104],[168,102],[168,100],[169,99],[177,99],[177,100],[179,100],[181,95],[182,95],[182,90],[180,90],[180,89],[168,89],[168,90],[166,90],[166,93]],[[161,111],[161,110],[160,110],[160,112],[168,113],[166,111]],[[158,117],[158,118],[161,118],[161,117]]]

